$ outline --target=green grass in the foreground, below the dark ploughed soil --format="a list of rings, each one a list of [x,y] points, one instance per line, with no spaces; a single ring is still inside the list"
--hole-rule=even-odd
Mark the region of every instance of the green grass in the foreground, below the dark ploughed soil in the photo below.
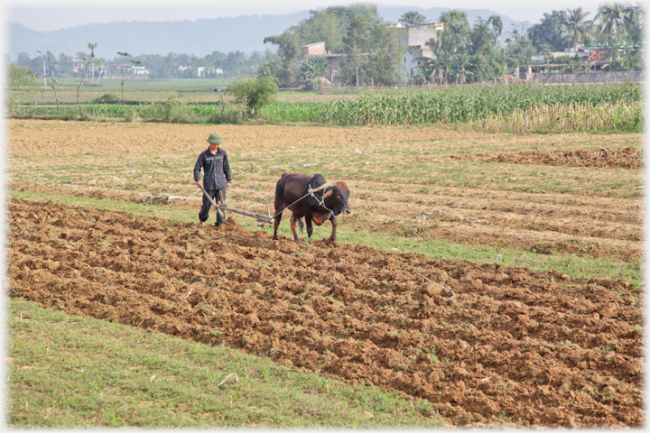
[[[8,301],[11,428],[439,427],[431,405],[223,345]],[[229,374],[237,373],[235,376]],[[219,384],[223,382],[219,386]]]

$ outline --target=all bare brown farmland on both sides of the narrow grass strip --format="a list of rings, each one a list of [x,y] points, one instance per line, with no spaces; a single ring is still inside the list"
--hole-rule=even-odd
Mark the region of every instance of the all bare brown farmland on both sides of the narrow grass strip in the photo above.
[[[638,134],[486,134],[12,120],[12,294],[73,314],[226,344],[432,402],[455,425],[640,426],[643,287],[360,244],[313,244],[229,214],[220,227],[60,196],[196,210],[224,137],[232,207],[273,214],[283,172],[345,180],[339,235],[376,232],[640,266]],[[246,196],[246,197],[243,197]],[[17,198],[19,197],[19,198]],[[257,200],[255,202],[253,200]],[[106,201],[101,201],[102,205]],[[165,214],[166,215],[166,214]],[[210,218],[212,221],[213,216]],[[302,239],[304,239],[302,235]],[[496,250],[497,251],[497,250]]]

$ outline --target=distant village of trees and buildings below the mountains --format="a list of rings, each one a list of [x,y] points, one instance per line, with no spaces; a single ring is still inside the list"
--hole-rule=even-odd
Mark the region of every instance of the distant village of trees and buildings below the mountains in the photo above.
[[[357,14],[355,19],[363,18],[359,20],[360,25],[370,28],[380,23],[383,26],[390,52],[373,52],[376,51],[373,46],[385,44],[381,41],[370,42],[362,52],[357,52],[358,48],[355,48],[356,53],[350,51],[349,46],[356,45],[356,40],[361,38],[351,32],[350,29],[354,28],[351,22],[341,22],[342,37],[338,45],[327,39],[329,35],[324,35],[321,41],[300,44],[302,52],[287,48],[289,45],[283,38],[301,41],[298,32],[287,31],[280,36],[266,38],[265,42],[270,46],[275,45],[276,50],[269,48],[264,53],[214,51],[204,58],[169,53],[167,56],[140,55],[107,60],[95,58],[93,47],[89,54],[79,51],[75,57],[64,54],[55,57],[48,52],[41,58],[33,59],[21,53],[16,63],[32,69],[37,75],[45,73],[63,78],[85,74],[91,82],[119,77],[238,78],[274,75],[283,87],[307,85],[319,88],[386,86],[392,83],[465,84],[486,80],[508,83],[634,81],[642,77],[645,11],[638,6],[622,9],[628,18],[625,25],[607,21],[607,11],[604,9],[599,13],[599,21],[590,21],[587,20],[587,13],[575,8],[552,11],[551,14],[544,14],[539,24],[527,29],[511,29],[509,32],[504,31],[498,16],[479,19],[473,27],[460,11],[441,14],[440,21],[435,22],[427,22],[425,17],[413,12],[404,14],[398,23],[382,23],[373,16],[372,10],[348,9]],[[328,11],[326,9],[318,14],[336,12]],[[309,26],[310,22],[307,20],[300,25]],[[502,33],[508,36],[504,43],[498,41]],[[557,34],[563,34],[562,39],[557,40],[556,37],[556,40],[552,40],[551,36]],[[476,42],[478,36],[484,41]],[[347,41],[347,45],[340,41]],[[391,41],[397,42],[391,45]],[[92,45],[88,43],[88,47]],[[558,50],[559,47],[563,48]],[[380,59],[382,55],[385,57]],[[46,56],[49,57],[47,62],[44,61]],[[371,63],[392,64],[394,70],[375,70]],[[39,68],[35,68],[34,64]],[[608,72],[611,77],[584,74],[594,72]]]

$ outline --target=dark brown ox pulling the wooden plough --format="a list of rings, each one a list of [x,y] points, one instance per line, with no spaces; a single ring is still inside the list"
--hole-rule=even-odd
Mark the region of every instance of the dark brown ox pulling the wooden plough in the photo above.
[[[280,180],[275,185],[275,221],[274,221],[274,239],[277,240],[277,227],[280,226],[282,220],[282,212],[285,208],[292,211],[291,227],[293,239],[296,244],[298,241],[298,234],[296,233],[296,224],[300,224],[302,231],[302,217],[307,221],[307,242],[311,244],[311,233],[313,232],[313,221],[316,226],[322,225],[328,219],[332,224],[332,233],[327,244],[336,240],[336,216],[340,213],[351,214],[352,211],[348,207],[349,189],[345,182],[337,182],[335,186],[321,189],[314,192],[312,197],[309,194],[309,189],[317,189],[324,185],[325,178],[320,174],[315,174],[312,178],[304,174],[289,174],[284,173]],[[307,197],[302,198],[302,196]],[[302,198],[302,200],[299,200]],[[296,203],[293,203],[297,201]],[[292,204],[293,203],[293,204]]]

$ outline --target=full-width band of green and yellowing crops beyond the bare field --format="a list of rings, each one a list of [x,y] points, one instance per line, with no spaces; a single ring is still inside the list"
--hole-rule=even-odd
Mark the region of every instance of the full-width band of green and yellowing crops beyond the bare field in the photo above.
[[[266,122],[311,124],[406,125],[468,122],[496,131],[643,130],[643,91],[638,84],[571,86],[458,86],[387,90],[330,102],[274,102],[257,115]],[[169,101],[131,105],[85,104],[92,119],[162,120],[224,124],[246,121],[245,107]],[[77,105],[13,106],[10,115],[79,118]]]

